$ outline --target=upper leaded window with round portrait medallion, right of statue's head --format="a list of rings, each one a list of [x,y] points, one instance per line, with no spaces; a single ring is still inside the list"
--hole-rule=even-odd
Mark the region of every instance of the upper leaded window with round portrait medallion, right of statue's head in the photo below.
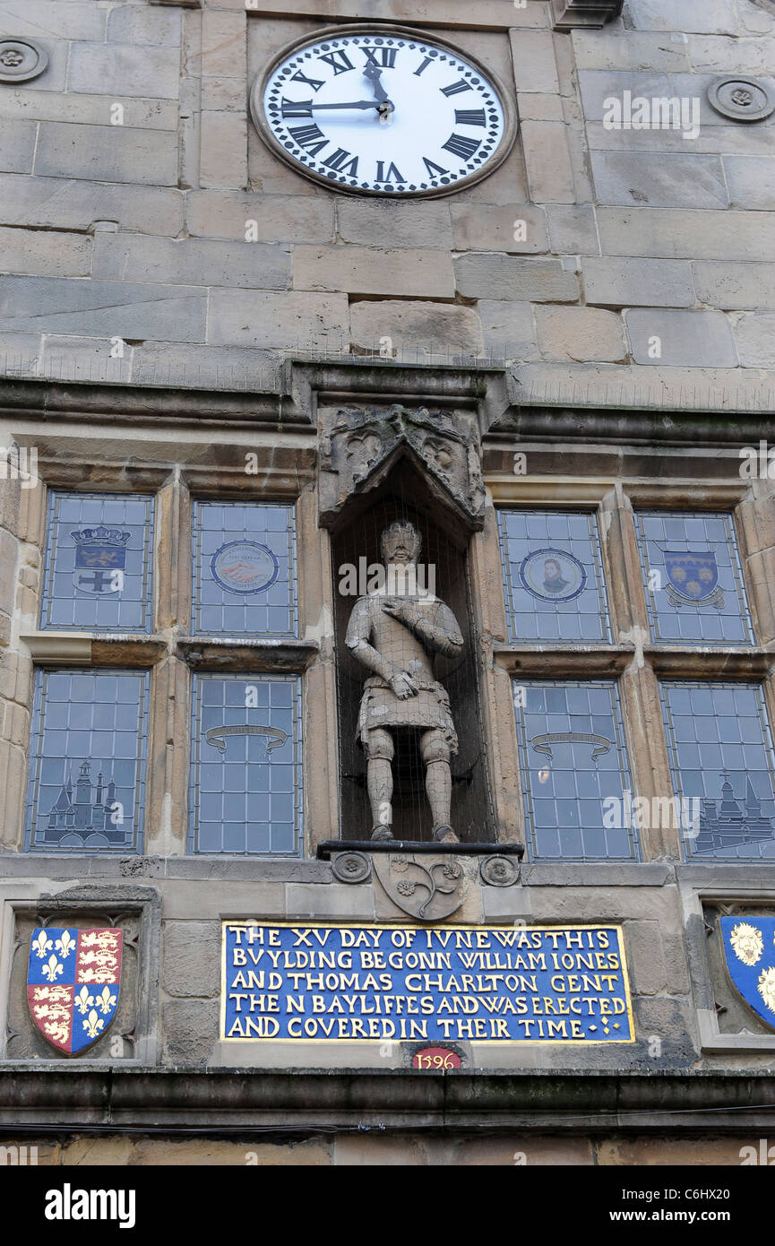
[[[512,643],[611,640],[594,515],[500,511]]]

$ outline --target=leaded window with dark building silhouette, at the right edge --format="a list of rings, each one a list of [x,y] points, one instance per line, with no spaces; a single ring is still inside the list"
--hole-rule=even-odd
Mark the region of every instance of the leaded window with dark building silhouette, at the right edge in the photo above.
[[[773,736],[760,684],[662,684],[688,858],[775,858]]]

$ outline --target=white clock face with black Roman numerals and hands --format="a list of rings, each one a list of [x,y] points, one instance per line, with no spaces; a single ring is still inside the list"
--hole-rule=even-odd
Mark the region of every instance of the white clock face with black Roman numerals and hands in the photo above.
[[[515,133],[505,92],[470,56],[416,31],[361,25],[294,44],[257,82],[252,110],[299,172],[390,198],[478,181]]]

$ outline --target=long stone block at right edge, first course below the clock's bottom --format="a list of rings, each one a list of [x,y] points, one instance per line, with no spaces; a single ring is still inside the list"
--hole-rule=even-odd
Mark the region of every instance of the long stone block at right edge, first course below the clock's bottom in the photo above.
[[[604,255],[775,259],[775,231],[763,212],[601,207],[597,223]]]

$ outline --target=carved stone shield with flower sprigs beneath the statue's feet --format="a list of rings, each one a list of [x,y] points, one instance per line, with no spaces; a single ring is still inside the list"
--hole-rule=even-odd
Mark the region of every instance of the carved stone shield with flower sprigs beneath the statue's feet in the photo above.
[[[442,921],[464,902],[466,875],[455,856],[385,852],[373,862],[385,895],[416,921]]]

